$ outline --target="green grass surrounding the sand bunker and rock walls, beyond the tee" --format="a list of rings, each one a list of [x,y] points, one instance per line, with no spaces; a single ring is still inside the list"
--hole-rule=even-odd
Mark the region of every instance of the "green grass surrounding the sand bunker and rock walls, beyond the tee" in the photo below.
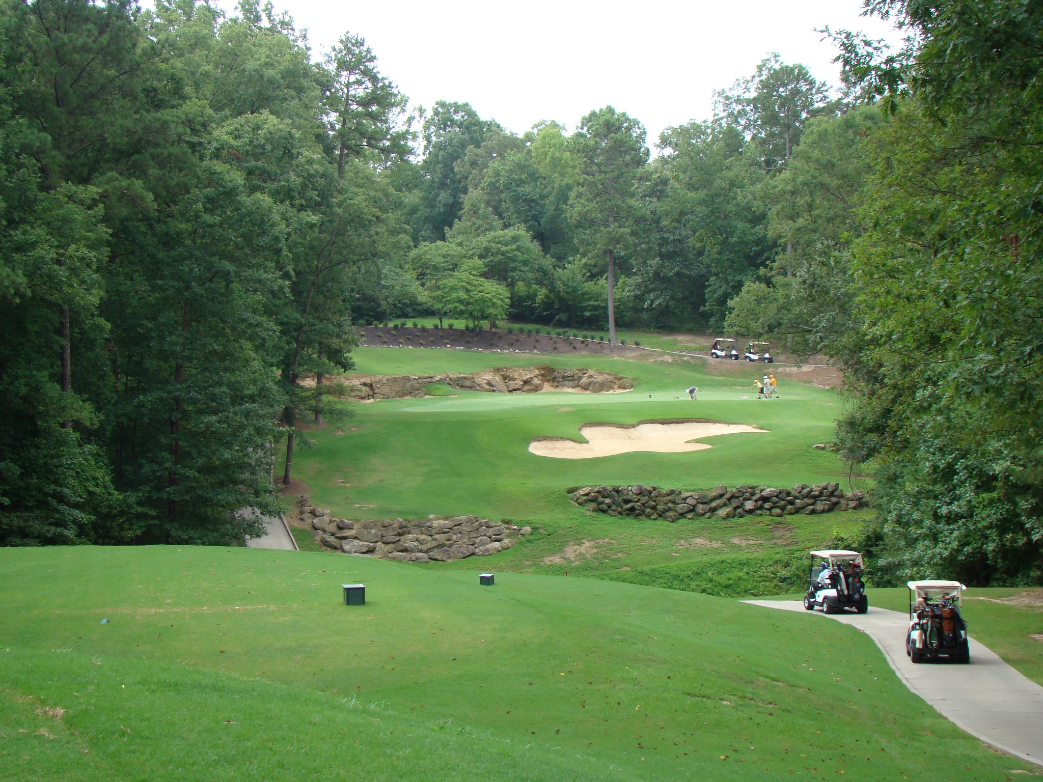
[[[843,410],[836,391],[786,382],[780,369],[742,362],[658,356],[654,361],[576,353],[488,353],[447,349],[360,348],[356,362],[371,374],[475,372],[539,363],[591,368],[631,377],[626,393],[451,392],[426,398],[346,402],[353,417],[301,433],[311,447],[294,458],[297,493],[344,518],[426,518],[475,514],[534,529],[525,546],[489,560],[490,567],[603,579],[726,595],[776,594],[797,587],[791,564],[804,546],[821,546],[856,530],[864,511],[772,519],[747,516],[671,524],[581,510],[566,492],[576,486],[645,484],[707,489],[718,484],[792,486],[852,484],[830,450]],[[710,371],[712,370],[712,372]],[[778,371],[780,394],[757,399],[751,386]],[[693,401],[685,393],[699,387]],[[436,390],[444,394],[444,389]],[[530,453],[536,438],[583,442],[588,424],[701,419],[739,424],[739,432],[697,439],[687,453],[620,454],[552,459]],[[298,530],[298,543],[312,544]],[[471,568],[466,560],[448,568]]]

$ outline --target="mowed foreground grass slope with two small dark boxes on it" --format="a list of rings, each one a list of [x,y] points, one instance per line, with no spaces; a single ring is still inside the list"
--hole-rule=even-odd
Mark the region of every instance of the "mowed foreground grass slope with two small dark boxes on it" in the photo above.
[[[821,616],[576,578],[483,588],[477,573],[246,548],[5,549],[4,779],[999,780],[1026,767]],[[355,581],[364,607],[340,602]]]

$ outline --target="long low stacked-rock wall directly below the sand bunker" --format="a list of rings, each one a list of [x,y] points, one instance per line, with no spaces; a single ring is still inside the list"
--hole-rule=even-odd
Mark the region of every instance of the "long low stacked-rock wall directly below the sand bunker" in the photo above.
[[[800,484],[790,489],[768,486],[718,486],[712,491],[681,491],[656,486],[584,486],[571,490],[581,508],[610,516],[635,518],[725,519],[741,516],[792,516],[796,513],[849,511],[866,505],[860,491],[845,492],[840,484]]]

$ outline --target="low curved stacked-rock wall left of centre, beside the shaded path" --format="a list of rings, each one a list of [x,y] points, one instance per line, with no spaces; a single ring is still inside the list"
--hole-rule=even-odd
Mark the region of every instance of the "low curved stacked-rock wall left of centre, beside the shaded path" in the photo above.
[[[300,497],[300,517],[311,520],[329,548],[398,562],[451,562],[467,557],[487,557],[507,551],[519,537],[532,533],[528,527],[498,524],[478,516],[428,516],[425,519],[333,518],[330,511],[315,508]]]

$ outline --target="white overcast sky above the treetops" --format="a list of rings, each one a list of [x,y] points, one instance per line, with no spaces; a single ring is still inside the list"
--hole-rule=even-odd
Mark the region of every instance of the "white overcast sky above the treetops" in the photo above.
[[[862,17],[862,0],[272,1],[308,29],[313,56],[345,30],[365,38],[411,105],[469,102],[522,133],[542,119],[572,129],[611,104],[641,121],[650,144],[664,127],[708,119],[713,91],[772,51],[835,85],[835,50],[816,28],[899,38]]]

